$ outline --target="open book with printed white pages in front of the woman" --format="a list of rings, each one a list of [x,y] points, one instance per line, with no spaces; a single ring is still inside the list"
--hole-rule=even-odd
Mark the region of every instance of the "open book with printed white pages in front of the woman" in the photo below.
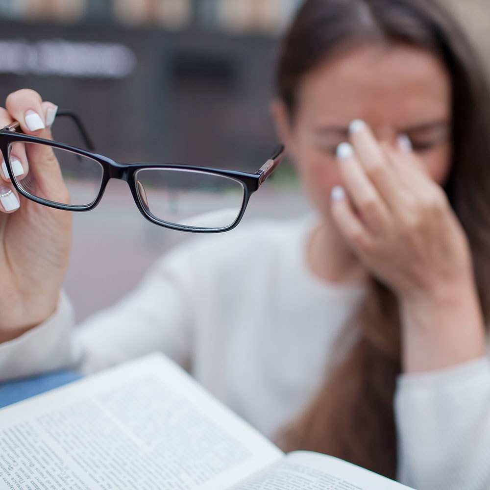
[[[406,488],[330,456],[285,455],[160,354],[0,410],[0,489]]]

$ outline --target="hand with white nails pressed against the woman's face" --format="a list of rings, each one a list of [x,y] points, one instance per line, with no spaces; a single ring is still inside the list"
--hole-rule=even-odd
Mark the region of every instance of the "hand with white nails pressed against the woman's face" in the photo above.
[[[472,278],[466,235],[409,145],[380,144],[368,126],[338,150],[343,189],[332,215],[369,272],[398,296],[438,295]]]

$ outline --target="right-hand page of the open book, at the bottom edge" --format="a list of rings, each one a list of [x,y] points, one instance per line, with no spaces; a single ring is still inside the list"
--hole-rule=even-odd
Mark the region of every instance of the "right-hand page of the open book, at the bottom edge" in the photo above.
[[[400,483],[324,454],[289,453],[230,490],[402,490]]]

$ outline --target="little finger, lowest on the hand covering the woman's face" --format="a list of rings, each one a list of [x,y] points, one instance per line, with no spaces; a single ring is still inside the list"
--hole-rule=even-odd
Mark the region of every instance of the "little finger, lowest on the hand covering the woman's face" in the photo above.
[[[357,218],[341,186],[332,189],[330,212],[343,237],[352,248],[359,250],[368,245],[370,242],[368,230]]]

